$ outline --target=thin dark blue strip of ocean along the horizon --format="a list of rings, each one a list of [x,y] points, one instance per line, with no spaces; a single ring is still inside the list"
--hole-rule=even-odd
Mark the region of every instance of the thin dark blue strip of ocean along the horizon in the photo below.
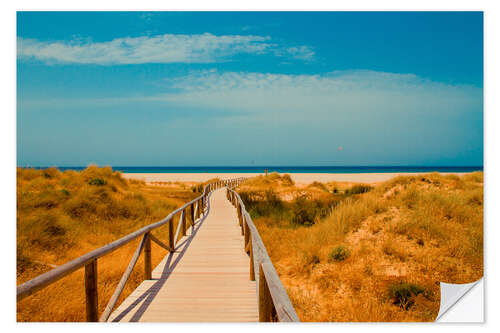
[[[45,167],[37,167],[45,168]],[[59,170],[83,170],[83,166],[61,166]],[[405,172],[472,172],[483,171],[482,166],[112,166],[124,173],[405,173]]]

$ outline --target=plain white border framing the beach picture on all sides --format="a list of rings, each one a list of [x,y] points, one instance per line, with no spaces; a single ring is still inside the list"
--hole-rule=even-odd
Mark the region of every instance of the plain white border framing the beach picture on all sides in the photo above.
[[[210,4],[210,6],[208,5]],[[50,329],[56,331],[65,331],[68,329],[76,331],[91,330],[106,330],[106,331],[127,331],[136,332],[137,330],[183,330],[197,332],[250,332],[257,327],[251,324],[247,325],[207,325],[207,324],[148,324],[147,326],[137,325],[93,325],[88,324],[16,324],[15,323],[15,164],[16,164],[16,10],[484,10],[485,21],[485,84],[484,84],[484,106],[485,106],[485,325],[438,325],[438,324],[300,324],[300,325],[259,325],[258,330],[287,330],[291,332],[299,332],[303,329],[317,329],[321,331],[337,331],[337,330],[354,330],[370,332],[387,332],[405,330],[442,330],[453,329],[454,331],[475,331],[480,328],[499,328],[499,306],[500,299],[499,288],[497,287],[499,278],[498,264],[495,264],[495,257],[492,255],[492,260],[488,254],[498,254],[500,249],[496,237],[500,235],[499,231],[499,214],[498,202],[500,188],[500,165],[497,143],[498,140],[498,112],[500,110],[498,98],[500,82],[498,80],[500,60],[499,53],[499,25],[500,15],[498,1],[439,1],[439,0],[420,0],[420,1],[396,1],[396,0],[378,0],[378,1],[343,1],[335,3],[327,3],[318,0],[308,1],[271,1],[271,0],[255,0],[252,2],[236,2],[234,0],[222,1],[212,0],[210,2],[190,1],[183,2],[167,2],[167,1],[107,1],[102,0],[87,0],[83,1],[62,1],[62,0],[22,0],[16,2],[2,3],[1,24],[2,41],[4,46],[1,52],[2,61],[2,120],[0,121],[1,129],[1,146],[3,156],[0,163],[0,175],[2,177],[1,190],[1,211],[2,224],[8,226],[7,232],[4,232],[2,239],[2,252],[4,257],[4,273],[2,274],[2,286],[4,286],[4,298],[1,302],[1,314],[4,319],[4,325],[8,324],[12,329],[33,330],[33,329]],[[495,207],[496,206],[496,207]],[[7,251],[5,251],[7,250]],[[490,283],[491,282],[491,283]],[[491,302],[489,302],[491,300]],[[360,309],[362,311],[362,309]],[[40,326],[43,325],[43,326]],[[8,329],[8,328],[7,328]]]

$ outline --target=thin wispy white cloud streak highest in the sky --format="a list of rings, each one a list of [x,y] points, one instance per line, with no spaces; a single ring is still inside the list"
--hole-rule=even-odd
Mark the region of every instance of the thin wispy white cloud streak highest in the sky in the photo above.
[[[21,59],[37,59],[51,64],[99,65],[211,63],[227,61],[239,54],[270,54],[297,60],[314,57],[314,51],[308,46],[280,45],[271,42],[269,36],[216,36],[209,33],[125,37],[107,42],[48,42],[18,38],[17,54]]]

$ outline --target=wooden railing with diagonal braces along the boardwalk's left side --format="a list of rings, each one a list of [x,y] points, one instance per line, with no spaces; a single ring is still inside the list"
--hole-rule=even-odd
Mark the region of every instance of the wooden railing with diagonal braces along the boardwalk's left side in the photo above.
[[[122,293],[125,283],[130,277],[135,264],[137,263],[141,252],[144,250],[144,279],[150,280],[152,275],[151,267],[151,241],[157,243],[159,246],[165,248],[169,252],[175,251],[179,235],[185,236],[187,228],[191,226],[194,228],[196,220],[203,216],[205,208],[207,207],[208,194],[218,188],[229,186],[233,187],[239,184],[242,178],[231,179],[231,180],[221,180],[210,183],[205,186],[203,194],[196,199],[188,202],[184,206],[174,210],[167,215],[161,221],[145,226],[125,237],[122,237],[112,243],[109,243],[103,247],[100,247],[92,252],[89,252],[81,257],[78,257],[72,261],[69,261],[61,266],[58,266],[36,278],[29,280],[17,287],[17,301],[20,301],[37,291],[47,287],[48,285],[62,279],[68,274],[78,270],[85,266],[85,297],[86,297],[86,314],[87,321],[107,321],[113,308]],[[177,229],[174,233],[174,216],[180,214],[179,222],[177,224]],[[190,216],[190,218],[188,218]],[[190,221],[189,221],[190,220]],[[190,225],[188,226],[188,223]],[[155,236],[151,234],[152,230],[155,230],[163,225],[167,224],[169,229],[169,239],[165,244]],[[193,229],[194,230],[194,229]],[[175,235],[175,236],[174,236]],[[118,283],[111,299],[109,300],[106,308],[99,317],[98,315],[98,292],[97,292],[97,260],[112,251],[115,251],[122,246],[128,244],[129,242],[141,237],[141,242],[137,247],[130,263],[122,275],[120,282]]]

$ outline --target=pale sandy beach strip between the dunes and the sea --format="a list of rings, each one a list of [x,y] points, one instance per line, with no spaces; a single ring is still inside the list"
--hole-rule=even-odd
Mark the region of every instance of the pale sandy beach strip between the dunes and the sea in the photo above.
[[[290,173],[294,182],[309,184],[314,181],[327,183],[332,181],[353,183],[378,183],[399,175],[418,175],[424,173]],[[448,173],[442,173],[448,174]],[[463,173],[455,173],[462,175]],[[255,177],[263,173],[124,173],[129,179],[140,179],[146,182],[203,182],[212,178],[230,179],[239,177]]]

